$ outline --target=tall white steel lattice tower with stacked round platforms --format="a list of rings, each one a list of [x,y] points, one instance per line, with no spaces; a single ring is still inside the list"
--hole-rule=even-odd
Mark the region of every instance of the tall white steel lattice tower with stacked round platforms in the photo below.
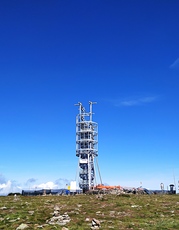
[[[82,103],[76,116],[76,156],[79,157],[79,187],[83,192],[94,187],[94,159],[98,156],[98,124],[92,120],[92,105],[89,101],[90,112],[86,112]]]

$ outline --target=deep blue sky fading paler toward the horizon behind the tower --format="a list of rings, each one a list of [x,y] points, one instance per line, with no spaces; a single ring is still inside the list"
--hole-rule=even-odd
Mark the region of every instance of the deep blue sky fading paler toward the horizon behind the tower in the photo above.
[[[179,180],[179,2],[0,1],[0,193],[76,176],[75,103],[94,105],[101,176]]]

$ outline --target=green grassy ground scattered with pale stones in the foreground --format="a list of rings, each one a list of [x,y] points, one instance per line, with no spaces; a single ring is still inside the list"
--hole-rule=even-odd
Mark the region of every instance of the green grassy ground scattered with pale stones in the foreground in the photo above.
[[[28,229],[62,229],[46,223],[55,205],[70,216],[69,230],[90,229],[92,218],[100,220],[103,230],[179,229],[179,195],[76,195],[0,197],[0,230],[22,223]]]

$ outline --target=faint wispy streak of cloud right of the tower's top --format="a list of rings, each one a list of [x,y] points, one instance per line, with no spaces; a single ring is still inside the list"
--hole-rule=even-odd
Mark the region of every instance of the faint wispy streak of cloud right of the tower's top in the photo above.
[[[156,96],[149,97],[134,97],[134,98],[124,98],[114,102],[115,106],[139,106],[154,102],[157,100]]]

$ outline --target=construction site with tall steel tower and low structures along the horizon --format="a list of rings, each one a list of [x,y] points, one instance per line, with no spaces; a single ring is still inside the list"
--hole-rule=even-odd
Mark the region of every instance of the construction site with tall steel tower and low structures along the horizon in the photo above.
[[[22,195],[68,195],[68,194],[176,194],[175,186],[169,185],[169,189],[164,190],[161,183],[161,190],[148,190],[134,187],[122,187],[121,185],[106,185],[102,182],[100,167],[98,164],[98,123],[93,120],[93,105],[96,102],[89,101],[87,111],[81,102],[76,115],[76,157],[77,173],[74,181],[71,181],[66,188],[22,190]]]

